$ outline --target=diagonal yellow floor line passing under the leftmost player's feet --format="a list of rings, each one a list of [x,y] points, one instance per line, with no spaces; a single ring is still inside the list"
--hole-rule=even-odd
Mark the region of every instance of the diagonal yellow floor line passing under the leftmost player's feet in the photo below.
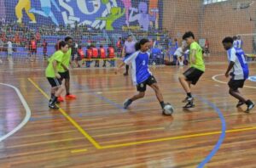
[[[40,87],[38,87],[38,85],[34,81],[32,81],[32,79],[28,78],[28,81],[30,81],[32,85],[36,87],[38,91],[44,95],[45,98],[49,99],[49,96]],[[79,126],[79,124],[75,120],[73,120],[72,117],[67,115],[64,109],[60,108],[59,111],[62,115],[64,115],[67,118],[67,120],[69,120],[73,124],[73,126],[75,126],[79,130],[79,132],[81,132],[84,135],[84,137],[86,137],[90,141],[90,143],[92,143],[96,148],[102,148],[99,145],[99,143],[96,143],[96,140],[94,140],[93,137],[90,137],[89,133],[85,132],[84,129],[81,126]]]

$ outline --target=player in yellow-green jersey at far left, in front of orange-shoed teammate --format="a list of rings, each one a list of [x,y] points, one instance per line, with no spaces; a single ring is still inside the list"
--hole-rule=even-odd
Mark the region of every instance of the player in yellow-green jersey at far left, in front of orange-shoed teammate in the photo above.
[[[60,50],[56,51],[50,58],[49,64],[45,70],[45,76],[51,86],[51,98],[49,100],[50,109],[58,109],[55,105],[57,98],[64,91],[64,87],[61,86],[61,75],[58,73],[62,66],[62,59],[64,54],[67,53],[68,45],[67,42],[60,42]]]

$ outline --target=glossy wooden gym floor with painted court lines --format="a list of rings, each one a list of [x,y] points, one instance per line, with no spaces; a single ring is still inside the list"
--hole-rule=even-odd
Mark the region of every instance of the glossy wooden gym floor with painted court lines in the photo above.
[[[44,65],[0,64],[0,82],[11,85],[0,85],[1,168],[196,167],[206,158],[211,159],[207,167],[256,166],[256,109],[251,114],[242,112],[246,107],[236,109],[227,79],[216,76],[224,73],[225,64],[207,65],[193,87],[196,107],[191,110],[181,108],[185,94],[177,81],[187,67],[152,70],[165,101],[175,108],[172,117],[161,115],[150,88],[145,98],[122,109],[136,89],[131,76],[114,75],[110,69],[72,70],[71,91],[78,98],[49,110]],[[250,69],[256,75],[256,64]],[[246,85],[242,93],[256,102],[256,83]],[[207,157],[213,148],[217,153]]]

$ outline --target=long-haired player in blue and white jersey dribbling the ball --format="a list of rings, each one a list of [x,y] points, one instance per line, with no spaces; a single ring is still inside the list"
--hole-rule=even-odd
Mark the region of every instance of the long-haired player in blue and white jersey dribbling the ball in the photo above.
[[[165,107],[164,98],[162,93],[160,92],[160,88],[157,85],[157,81],[154,76],[148,69],[148,59],[150,53],[148,53],[148,49],[150,46],[150,42],[148,39],[142,39],[140,42],[136,44],[137,52],[132,53],[131,56],[124,59],[124,62],[119,65],[116,73],[121,70],[125,64],[131,64],[132,70],[132,81],[134,85],[137,86],[137,91],[139,92],[137,95],[134,95],[132,98],[125,100],[124,108],[127,109],[132,102],[139,98],[143,98],[145,96],[145,92],[147,89],[147,85],[154,89],[155,95],[160,102],[160,106],[162,109]],[[163,113],[164,114],[164,113]]]

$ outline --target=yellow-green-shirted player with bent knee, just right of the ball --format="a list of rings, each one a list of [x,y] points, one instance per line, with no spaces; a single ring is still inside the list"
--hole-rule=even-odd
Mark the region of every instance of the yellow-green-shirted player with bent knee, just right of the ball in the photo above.
[[[191,84],[195,85],[201,75],[205,72],[205,63],[203,60],[202,48],[197,42],[195,42],[193,32],[186,32],[183,35],[183,40],[185,40],[189,46],[190,68],[189,70],[186,70],[183,75],[180,75],[178,80],[187,93],[187,98],[183,100],[183,103],[187,104],[183,108],[189,109],[195,106],[193,103],[194,98],[191,95]]]

